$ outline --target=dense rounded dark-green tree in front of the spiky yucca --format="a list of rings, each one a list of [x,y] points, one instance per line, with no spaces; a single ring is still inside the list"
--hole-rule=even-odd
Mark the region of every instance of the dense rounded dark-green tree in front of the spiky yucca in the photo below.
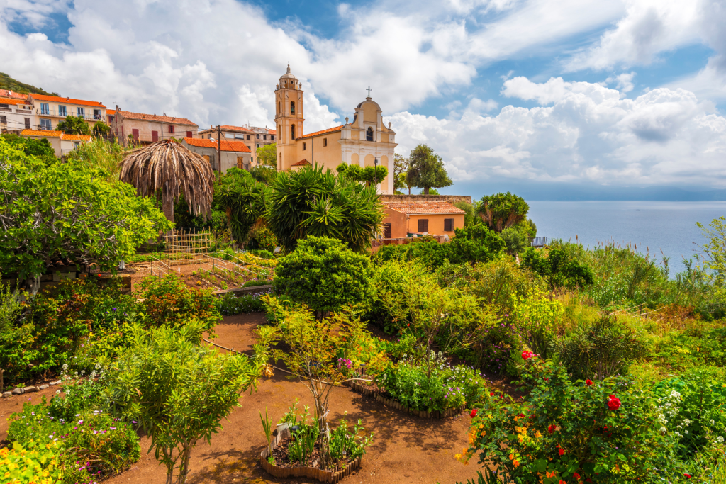
[[[338,239],[309,236],[275,268],[274,290],[306,303],[319,316],[345,305],[367,308],[372,299],[370,258]]]

